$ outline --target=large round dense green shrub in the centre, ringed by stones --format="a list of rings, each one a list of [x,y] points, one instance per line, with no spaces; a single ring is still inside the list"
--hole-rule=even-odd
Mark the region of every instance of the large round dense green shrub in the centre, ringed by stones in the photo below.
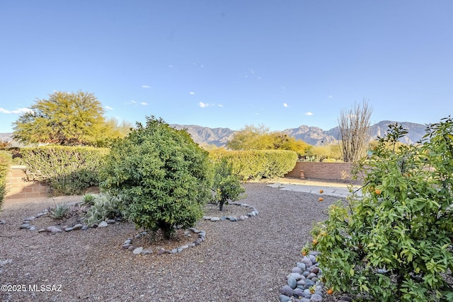
[[[137,227],[161,229],[171,236],[175,226],[189,228],[202,217],[210,198],[207,151],[184,130],[147,117],[112,147],[102,171],[101,188],[120,196]]]

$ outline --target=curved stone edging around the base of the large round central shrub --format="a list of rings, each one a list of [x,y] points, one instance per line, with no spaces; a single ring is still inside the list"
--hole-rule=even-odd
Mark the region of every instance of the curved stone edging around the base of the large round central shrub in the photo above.
[[[157,248],[157,255],[163,255],[163,254],[176,254],[178,252],[182,252],[183,250],[186,250],[188,248],[194,248],[197,245],[200,245],[203,241],[205,241],[206,238],[206,231],[203,230],[198,230],[197,228],[189,228],[188,231],[185,231],[184,234],[186,237],[190,237],[190,233],[195,233],[198,235],[198,238],[193,240],[192,243],[188,243],[185,245],[181,245],[178,248],[173,248],[172,250],[168,250],[166,248]],[[138,233],[134,238],[139,239],[142,238],[142,236],[147,235],[147,232],[144,231],[142,233]],[[124,250],[130,250],[134,255],[149,255],[153,251],[150,249],[146,249],[143,247],[136,247],[132,243],[132,238],[127,238],[125,240],[125,243],[122,244],[121,246],[122,249]]]

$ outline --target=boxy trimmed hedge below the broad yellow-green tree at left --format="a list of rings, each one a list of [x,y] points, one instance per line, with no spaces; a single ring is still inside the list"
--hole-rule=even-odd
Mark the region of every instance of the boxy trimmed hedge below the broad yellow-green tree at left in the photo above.
[[[54,195],[81,194],[99,183],[99,168],[108,149],[40,146],[21,149],[30,180],[45,180]]]

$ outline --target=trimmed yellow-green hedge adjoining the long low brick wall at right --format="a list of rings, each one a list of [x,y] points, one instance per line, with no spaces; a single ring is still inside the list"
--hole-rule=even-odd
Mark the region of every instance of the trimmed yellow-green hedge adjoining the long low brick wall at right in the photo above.
[[[284,150],[212,151],[214,161],[225,158],[241,180],[278,178],[294,168],[297,153]]]

